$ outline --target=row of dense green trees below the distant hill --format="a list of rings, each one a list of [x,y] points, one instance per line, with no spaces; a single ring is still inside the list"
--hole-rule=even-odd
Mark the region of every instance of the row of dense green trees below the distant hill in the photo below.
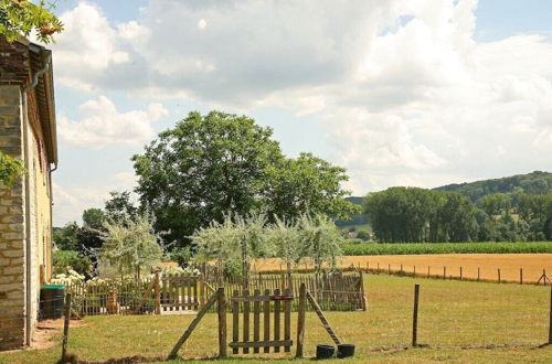
[[[379,242],[527,242],[552,239],[552,193],[492,193],[476,203],[459,192],[391,188],[363,210]]]

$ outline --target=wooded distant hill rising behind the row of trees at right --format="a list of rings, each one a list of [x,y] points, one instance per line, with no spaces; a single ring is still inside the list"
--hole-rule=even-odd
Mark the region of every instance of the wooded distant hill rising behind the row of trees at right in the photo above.
[[[518,174],[501,179],[447,184],[434,190],[459,192],[470,197],[474,202],[491,193],[521,192],[545,194],[552,192],[552,173],[534,171],[528,174]]]

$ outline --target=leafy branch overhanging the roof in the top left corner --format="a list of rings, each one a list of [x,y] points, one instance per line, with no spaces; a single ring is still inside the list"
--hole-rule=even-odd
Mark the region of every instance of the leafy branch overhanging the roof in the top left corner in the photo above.
[[[63,23],[52,10],[56,1],[0,0],[0,35],[9,42],[33,32],[43,43],[54,42],[53,35],[63,31]]]

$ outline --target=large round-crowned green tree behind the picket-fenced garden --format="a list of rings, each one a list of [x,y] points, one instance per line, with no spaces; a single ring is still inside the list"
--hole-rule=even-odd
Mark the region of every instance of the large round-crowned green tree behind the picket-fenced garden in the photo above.
[[[342,169],[310,154],[286,159],[272,129],[246,116],[190,113],[132,160],[141,205],[155,213],[156,229],[178,245],[225,213],[354,211],[342,201]]]

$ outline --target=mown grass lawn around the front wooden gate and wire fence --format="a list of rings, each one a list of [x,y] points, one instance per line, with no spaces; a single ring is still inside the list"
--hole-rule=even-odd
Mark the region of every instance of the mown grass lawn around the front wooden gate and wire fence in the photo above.
[[[406,347],[411,342],[415,282],[421,283],[418,343],[424,347],[412,350]],[[548,341],[550,287],[390,276],[368,276],[365,287],[367,312],[326,312],[338,336],[357,345],[354,362],[551,361],[552,347],[537,349]],[[161,357],[192,319],[193,315],[89,317],[84,320],[84,326],[71,329],[70,351],[88,361],[138,354]],[[227,322],[230,340],[230,317]],[[295,321],[291,328],[295,341]],[[314,356],[317,343],[331,342],[316,314],[310,312],[305,339],[306,357]],[[53,363],[61,352],[61,336],[54,340],[57,344],[50,350],[0,353],[0,363]],[[208,314],[179,354],[187,358],[208,358],[216,353],[216,317]],[[295,346],[290,354],[241,354],[236,357],[247,357],[252,363],[268,358],[286,362],[293,360]],[[294,360],[295,363],[308,361]]]

